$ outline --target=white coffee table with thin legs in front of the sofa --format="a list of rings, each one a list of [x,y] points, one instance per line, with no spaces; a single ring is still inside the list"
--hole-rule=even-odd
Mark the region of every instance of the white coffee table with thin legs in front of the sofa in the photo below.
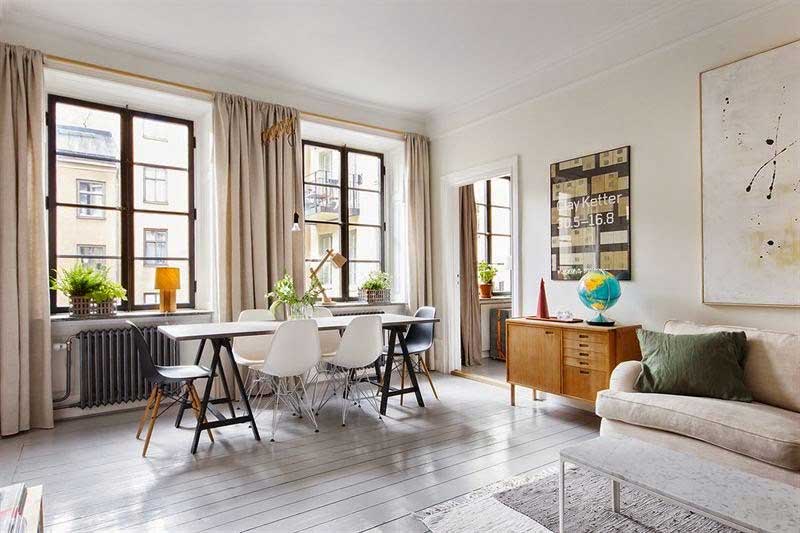
[[[598,437],[561,450],[559,530],[564,531],[565,463],[610,480],[611,508],[620,483],[742,531],[800,531],[800,489],[640,441]]]

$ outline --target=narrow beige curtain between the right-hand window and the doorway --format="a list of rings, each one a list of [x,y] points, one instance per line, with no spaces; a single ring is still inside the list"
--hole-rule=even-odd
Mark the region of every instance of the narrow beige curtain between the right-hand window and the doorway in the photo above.
[[[433,305],[431,164],[427,137],[407,133],[405,139],[408,186],[408,306],[413,313],[420,306]],[[437,368],[433,349],[428,352],[426,359],[431,369]]]

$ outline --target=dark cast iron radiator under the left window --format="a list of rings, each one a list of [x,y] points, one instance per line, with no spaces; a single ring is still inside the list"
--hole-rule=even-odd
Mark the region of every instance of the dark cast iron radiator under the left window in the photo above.
[[[141,328],[153,362],[177,365],[180,352],[175,341],[155,327]],[[98,407],[146,400],[152,383],[141,377],[139,357],[130,328],[81,331],[76,336],[80,361],[80,407]],[[177,385],[173,387],[177,390]]]

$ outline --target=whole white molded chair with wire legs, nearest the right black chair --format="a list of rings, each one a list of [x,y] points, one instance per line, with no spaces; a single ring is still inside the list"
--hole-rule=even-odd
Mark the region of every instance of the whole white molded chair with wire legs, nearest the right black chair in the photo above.
[[[380,416],[377,389],[368,381],[368,373],[383,351],[383,327],[379,315],[353,318],[342,335],[339,349],[330,360],[335,369],[336,387],[342,391],[342,426],[347,424],[347,411],[353,405],[361,406],[366,400]],[[335,393],[335,389],[334,389]]]

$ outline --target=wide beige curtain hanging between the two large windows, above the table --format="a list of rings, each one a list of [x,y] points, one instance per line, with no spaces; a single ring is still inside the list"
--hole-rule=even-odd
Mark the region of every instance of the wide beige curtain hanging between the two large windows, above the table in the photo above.
[[[220,320],[263,308],[284,274],[303,287],[302,142],[296,109],[214,96]]]

